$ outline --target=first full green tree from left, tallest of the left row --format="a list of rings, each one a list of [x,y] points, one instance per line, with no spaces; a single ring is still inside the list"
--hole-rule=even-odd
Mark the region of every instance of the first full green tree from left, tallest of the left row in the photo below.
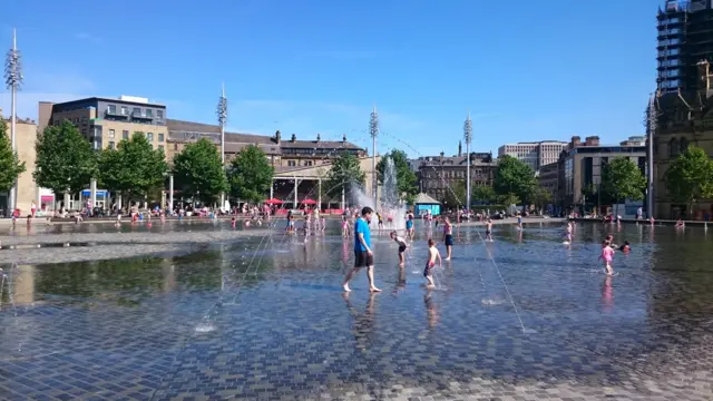
[[[69,120],[45,128],[35,151],[35,182],[58,198],[65,193],[78,194],[97,176],[97,154]]]

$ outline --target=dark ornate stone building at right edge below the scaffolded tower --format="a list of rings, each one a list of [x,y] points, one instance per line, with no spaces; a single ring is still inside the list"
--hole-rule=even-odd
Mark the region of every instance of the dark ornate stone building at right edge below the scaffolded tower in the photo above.
[[[657,218],[701,218],[713,215],[713,199],[701,199],[693,216],[687,205],[676,202],[666,188],[666,172],[671,162],[688,145],[696,145],[713,156],[713,87],[707,61],[699,63],[697,90],[660,92],[656,131],[654,134],[654,197]]]

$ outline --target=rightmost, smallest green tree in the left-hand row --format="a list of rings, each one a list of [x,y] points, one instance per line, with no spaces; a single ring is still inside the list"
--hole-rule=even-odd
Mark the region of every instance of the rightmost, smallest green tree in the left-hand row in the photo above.
[[[270,192],[275,168],[257,146],[244,147],[231,162],[228,184],[233,197],[258,203]]]

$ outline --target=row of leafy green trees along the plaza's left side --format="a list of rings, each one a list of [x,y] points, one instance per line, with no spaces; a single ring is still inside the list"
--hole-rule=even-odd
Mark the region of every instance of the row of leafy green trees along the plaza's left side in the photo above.
[[[92,178],[98,186],[121,194],[125,200],[157,199],[169,174],[175,189],[205,204],[226,193],[250,202],[263,200],[270,190],[274,168],[256,146],[245,147],[223,168],[217,147],[208,139],[188,144],[168,166],[163,149],[154,149],[144,133],[123,139],[116,148],[95,151],[78,129],[65,120],[47,127],[36,143],[36,183],[51,189],[59,198],[77,194]],[[12,154],[4,125],[0,124],[0,190],[12,187],[26,170]]]

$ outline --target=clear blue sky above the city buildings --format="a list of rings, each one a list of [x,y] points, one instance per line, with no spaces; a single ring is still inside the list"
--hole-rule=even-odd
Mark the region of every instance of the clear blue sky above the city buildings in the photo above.
[[[225,82],[232,130],[345,133],[371,148],[375,104],[380,149],[416,157],[456,153],[468,110],[478,151],[639,135],[660,3],[8,0],[0,48],[17,27],[20,116],[36,117],[38,100],[134,95],[213,123]],[[4,88],[0,104],[9,114]]]

